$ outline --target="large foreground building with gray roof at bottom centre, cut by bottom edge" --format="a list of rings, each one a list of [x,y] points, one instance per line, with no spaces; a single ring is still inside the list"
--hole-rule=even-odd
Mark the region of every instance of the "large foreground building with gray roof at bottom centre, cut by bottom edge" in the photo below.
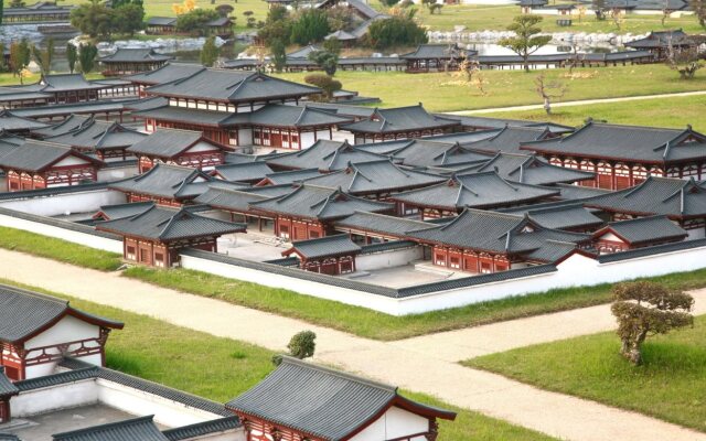
[[[240,418],[246,441],[436,441],[437,419],[456,419],[454,412],[403,397],[396,387],[287,356],[225,406]]]

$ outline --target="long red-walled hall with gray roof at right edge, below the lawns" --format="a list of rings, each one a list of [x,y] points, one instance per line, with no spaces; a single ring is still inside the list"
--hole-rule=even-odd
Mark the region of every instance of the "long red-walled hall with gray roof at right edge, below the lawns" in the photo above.
[[[692,130],[588,122],[576,132],[525,142],[549,163],[596,173],[582,185],[622,190],[648,176],[706,178],[706,136]]]

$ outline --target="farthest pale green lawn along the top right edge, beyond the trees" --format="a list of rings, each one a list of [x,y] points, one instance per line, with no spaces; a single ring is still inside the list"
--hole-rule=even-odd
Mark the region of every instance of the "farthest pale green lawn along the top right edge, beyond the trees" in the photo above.
[[[378,9],[383,9],[376,2]],[[515,15],[520,14],[520,7],[486,6],[486,4],[458,4],[445,6],[440,14],[430,15],[428,9],[420,8],[417,12],[419,21],[434,31],[452,31],[456,25],[466,26],[467,31],[505,30]],[[556,15],[542,15],[544,21],[539,26],[544,32],[603,32],[616,34],[641,34],[650,31],[682,28],[685,32],[703,32],[694,15],[666,19],[662,25],[661,15],[625,15],[625,22],[618,30],[611,20],[597,21],[595,15],[586,15],[579,23],[578,15],[571,17],[574,24],[570,28],[561,28],[556,24]]]

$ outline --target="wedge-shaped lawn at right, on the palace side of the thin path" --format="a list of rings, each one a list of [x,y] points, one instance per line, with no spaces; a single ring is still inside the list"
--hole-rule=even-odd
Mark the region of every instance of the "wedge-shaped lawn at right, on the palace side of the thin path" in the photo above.
[[[593,104],[556,108],[552,116],[542,110],[498,111],[477,114],[483,117],[531,119],[579,126],[586,118],[638,126],[660,126],[683,129],[686,123],[696,130],[706,129],[706,95],[655,98],[637,101]]]

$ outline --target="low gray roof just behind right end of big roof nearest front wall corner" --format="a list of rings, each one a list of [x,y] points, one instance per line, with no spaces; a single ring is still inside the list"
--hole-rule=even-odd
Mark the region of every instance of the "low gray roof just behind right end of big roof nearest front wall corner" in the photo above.
[[[502,213],[527,214],[541,225],[556,229],[589,228],[603,224],[600,217],[586,209],[581,204],[546,205],[549,206],[535,207],[533,205],[525,205],[517,208],[502,209]]]

